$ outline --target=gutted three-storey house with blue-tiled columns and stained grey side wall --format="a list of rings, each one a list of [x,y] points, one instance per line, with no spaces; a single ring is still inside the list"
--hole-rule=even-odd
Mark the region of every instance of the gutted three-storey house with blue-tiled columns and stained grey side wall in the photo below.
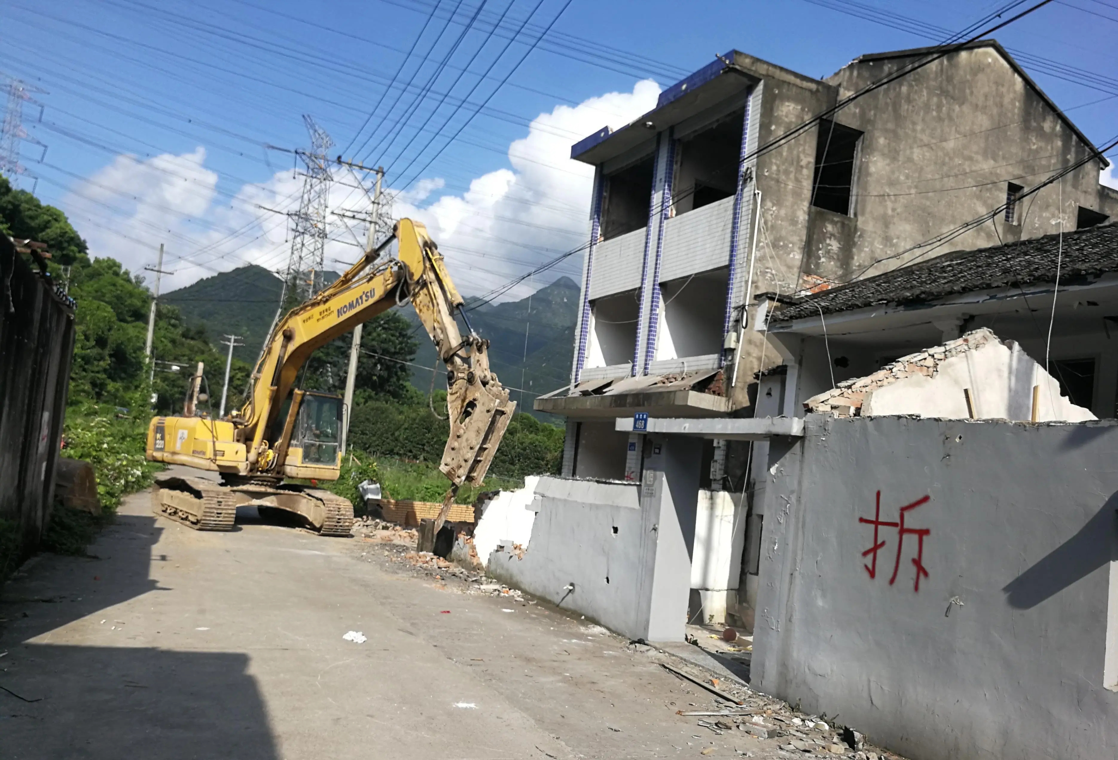
[[[756,373],[785,360],[747,329],[758,293],[837,286],[1118,215],[1118,193],[1099,184],[1107,160],[993,40],[866,55],[823,80],[733,50],[571,156],[596,168],[593,244],[571,383],[536,408],[568,419],[563,473],[582,477],[639,477],[642,439],[615,431],[615,417],[750,414]],[[941,234],[1002,205],[941,247]],[[716,475],[722,456],[707,454]]]

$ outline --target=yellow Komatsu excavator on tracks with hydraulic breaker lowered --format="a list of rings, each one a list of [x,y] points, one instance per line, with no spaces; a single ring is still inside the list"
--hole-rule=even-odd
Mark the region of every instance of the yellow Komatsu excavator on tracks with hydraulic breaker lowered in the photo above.
[[[394,239],[396,258],[377,264]],[[447,368],[451,436],[439,469],[452,492],[463,483],[480,485],[517,405],[490,371],[489,341],[470,326],[435,241],[420,222],[401,219],[392,236],[370,246],[333,284],[275,325],[241,409],[225,419],[196,414],[151,420],[148,459],[221,474],[220,484],[202,477],[157,478],[155,513],[197,530],[228,531],[237,507],[254,505],[294,513],[322,535],[349,535],[353,505],[348,500],[284,483],[288,477],[335,481],[341,468],[342,400],[295,388],[296,376],[315,349],[408,303]],[[467,335],[458,330],[455,314]]]

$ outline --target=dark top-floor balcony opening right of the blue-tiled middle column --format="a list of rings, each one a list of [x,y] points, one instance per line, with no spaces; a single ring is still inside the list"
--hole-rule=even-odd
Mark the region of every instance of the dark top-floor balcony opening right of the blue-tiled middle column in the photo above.
[[[673,194],[675,213],[686,213],[733,196],[738,189],[745,107],[680,140]]]

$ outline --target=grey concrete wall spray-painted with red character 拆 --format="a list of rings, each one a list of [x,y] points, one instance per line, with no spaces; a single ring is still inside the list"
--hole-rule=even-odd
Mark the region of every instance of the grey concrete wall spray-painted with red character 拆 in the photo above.
[[[913,760],[1116,757],[1116,459],[1115,422],[808,416],[770,446],[754,686]],[[902,507],[902,545],[865,522]]]

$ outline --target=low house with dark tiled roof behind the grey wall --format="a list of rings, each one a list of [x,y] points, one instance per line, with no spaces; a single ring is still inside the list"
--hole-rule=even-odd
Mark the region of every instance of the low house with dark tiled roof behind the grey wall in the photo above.
[[[988,327],[1046,363],[1073,403],[1118,417],[1116,224],[945,254],[792,303],[762,295],[758,317],[784,360],[762,382],[770,414],[802,417],[836,382]]]

